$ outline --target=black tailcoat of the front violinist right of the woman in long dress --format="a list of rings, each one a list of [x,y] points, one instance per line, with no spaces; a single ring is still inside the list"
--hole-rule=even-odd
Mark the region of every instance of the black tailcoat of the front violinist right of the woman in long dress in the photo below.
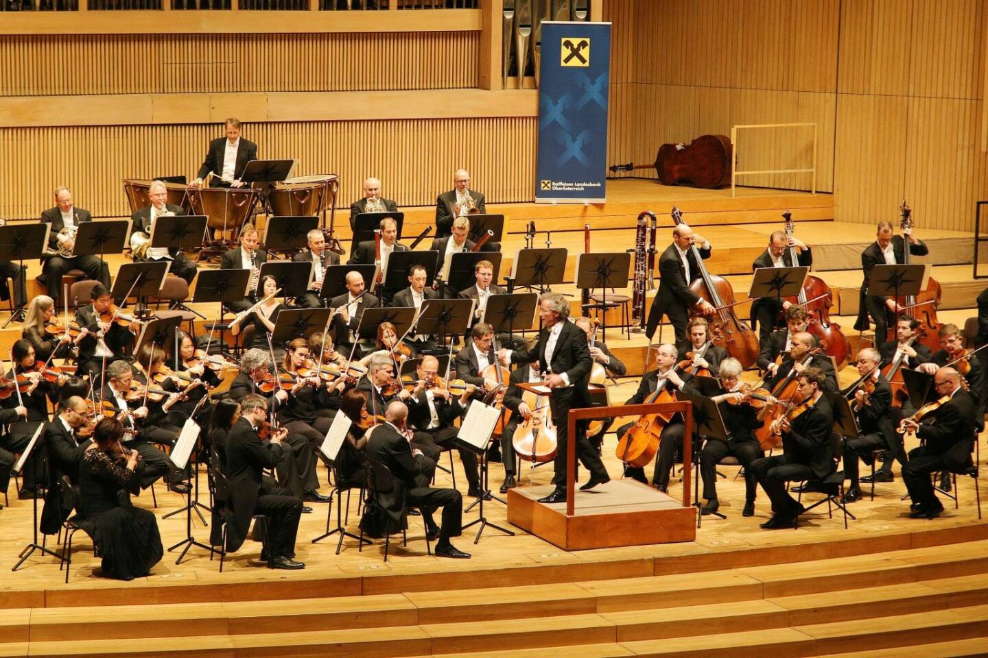
[[[262,475],[282,458],[282,446],[265,445],[246,418],[233,424],[226,438],[226,549],[243,545],[250,530],[257,499],[263,493]]]

